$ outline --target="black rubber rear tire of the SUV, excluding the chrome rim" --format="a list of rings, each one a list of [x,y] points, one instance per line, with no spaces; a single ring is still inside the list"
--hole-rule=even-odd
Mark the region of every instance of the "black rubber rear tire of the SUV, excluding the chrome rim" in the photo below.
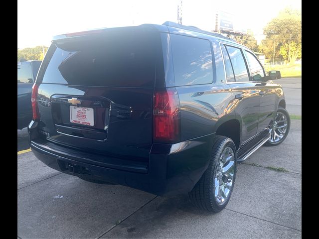
[[[236,171],[237,171],[237,152],[236,152],[236,146],[228,137],[224,136],[218,136],[213,145],[212,148],[212,154],[210,157],[210,162],[208,165],[208,168],[202,175],[202,177],[199,179],[197,184],[194,186],[191,192],[188,193],[188,196],[190,198],[190,201],[193,203],[193,205],[197,208],[203,209],[208,212],[220,212],[222,209],[226,207],[226,205],[229,202],[229,199],[231,197],[231,193],[234,188],[235,184],[235,178],[236,178]],[[217,162],[221,158],[222,152],[227,150],[226,148],[230,147],[233,151],[234,155],[234,172],[233,172],[233,180],[232,180],[232,186],[228,193],[228,196],[226,200],[223,202],[222,205],[217,203],[217,199],[214,195],[214,188],[215,188],[215,172],[217,167]],[[225,164],[226,165],[226,164]]]

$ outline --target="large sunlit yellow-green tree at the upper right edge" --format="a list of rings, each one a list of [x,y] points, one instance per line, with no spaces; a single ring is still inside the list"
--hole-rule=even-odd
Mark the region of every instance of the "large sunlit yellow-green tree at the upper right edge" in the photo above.
[[[301,57],[301,12],[299,10],[286,8],[281,11],[264,28],[264,34],[266,34],[264,42],[266,47],[270,45],[271,40],[274,44],[276,39],[276,55],[281,55],[289,62],[295,62],[298,57]]]

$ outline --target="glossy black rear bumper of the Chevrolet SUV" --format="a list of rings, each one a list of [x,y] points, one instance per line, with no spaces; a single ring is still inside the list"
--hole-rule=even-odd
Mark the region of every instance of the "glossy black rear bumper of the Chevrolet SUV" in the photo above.
[[[176,144],[154,143],[147,172],[143,172],[136,171],[136,168],[126,170],[123,167],[115,169],[113,166],[111,168],[92,164],[92,161],[86,161],[87,158],[80,157],[80,153],[63,153],[58,151],[54,144],[49,147],[41,144],[32,133],[32,128],[30,129],[31,123],[28,131],[32,152],[49,167],[80,178],[121,184],[159,196],[187,193],[192,190],[208,166],[214,136],[210,134]],[[68,165],[77,170],[70,172]]]

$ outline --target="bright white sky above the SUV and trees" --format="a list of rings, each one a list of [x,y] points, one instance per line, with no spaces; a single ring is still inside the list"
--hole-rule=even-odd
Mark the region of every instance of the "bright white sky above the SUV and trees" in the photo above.
[[[49,46],[52,36],[101,27],[177,22],[180,0],[18,0],[17,48]],[[235,29],[263,34],[285,7],[301,0],[182,0],[182,24],[215,29],[216,11],[235,15]],[[262,39],[262,35],[256,39]]]

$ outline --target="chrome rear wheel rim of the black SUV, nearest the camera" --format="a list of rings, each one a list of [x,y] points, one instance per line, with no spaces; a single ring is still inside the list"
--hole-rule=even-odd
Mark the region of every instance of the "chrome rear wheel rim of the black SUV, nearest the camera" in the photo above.
[[[223,205],[233,187],[235,156],[231,147],[226,147],[216,162],[214,170],[214,196],[217,204]]]

